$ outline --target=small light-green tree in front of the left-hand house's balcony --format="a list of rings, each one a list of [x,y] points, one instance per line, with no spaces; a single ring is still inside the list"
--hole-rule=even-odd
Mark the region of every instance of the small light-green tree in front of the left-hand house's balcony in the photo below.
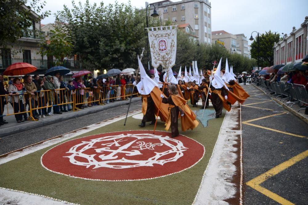
[[[61,26],[55,26],[55,30],[51,32],[50,40],[45,40],[40,44],[39,53],[42,56],[55,56],[59,61],[66,56],[71,56],[73,52],[71,37],[61,30]]]

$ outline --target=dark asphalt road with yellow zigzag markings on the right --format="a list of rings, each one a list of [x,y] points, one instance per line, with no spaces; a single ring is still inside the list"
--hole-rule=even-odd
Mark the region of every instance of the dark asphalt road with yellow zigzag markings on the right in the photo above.
[[[308,125],[253,85],[243,88],[251,96],[241,107],[244,204],[307,204]]]

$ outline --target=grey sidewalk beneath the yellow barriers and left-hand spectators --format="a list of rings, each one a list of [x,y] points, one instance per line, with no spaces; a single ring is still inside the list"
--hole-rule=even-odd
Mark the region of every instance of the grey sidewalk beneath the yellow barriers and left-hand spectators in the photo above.
[[[132,103],[140,101],[140,97],[133,97]],[[47,124],[52,124],[55,122],[72,119],[79,116],[84,116],[87,114],[100,112],[103,110],[107,110],[110,108],[118,107],[120,105],[129,104],[129,100],[124,101],[115,101],[113,103],[105,104],[105,105],[96,105],[88,108],[81,109],[79,111],[70,111],[63,112],[63,114],[55,114],[53,116],[46,116],[45,118],[40,118],[38,121],[28,120],[22,123],[17,123],[15,116],[4,116],[3,119],[8,122],[8,124],[4,124],[0,126],[0,137],[22,132],[25,130],[38,128]],[[8,109],[12,109],[12,106],[8,105]],[[11,111],[10,111],[11,112]],[[6,106],[4,107],[4,114],[7,113]]]

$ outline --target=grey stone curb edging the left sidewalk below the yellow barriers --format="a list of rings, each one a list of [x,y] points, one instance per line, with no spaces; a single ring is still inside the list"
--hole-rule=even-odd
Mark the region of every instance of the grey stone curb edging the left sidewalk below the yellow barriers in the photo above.
[[[133,102],[137,102],[140,101],[140,97],[133,97],[132,98],[132,103]],[[92,114],[95,112],[100,112],[103,110],[107,110],[110,108],[115,108],[124,104],[129,104],[129,100],[128,101],[120,101],[120,102],[114,102],[114,103],[109,103],[109,104],[105,104],[105,105],[98,105],[95,106],[94,108],[88,108],[88,109],[84,109],[84,110],[79,110],[78,112],[70,112],[64,115],[57,115],[57,117],[54,118],[50,118],[48,120],[41,120],[39,122],[36,121],[32,121],[30,123],[27,124],[20,124],[20,125],[16,125],[13,127],[8,127],[8,128],[1,128],[1,132],[0,132],[0,137],[6,136],[6,135],[11,135],[11,134],[15,134],[18,132],[22,132],[22,131],[26,131],[26,130],[30,130],[33,128],[38,128],[38,127],[42,127],[44,125],[48,125],[48,124],[53,124],[56,122],[61,122],[63,120],[69,120],[72,118],[76,118],[76,117],[80,117],[80,116],[85,116],[88,114]]]

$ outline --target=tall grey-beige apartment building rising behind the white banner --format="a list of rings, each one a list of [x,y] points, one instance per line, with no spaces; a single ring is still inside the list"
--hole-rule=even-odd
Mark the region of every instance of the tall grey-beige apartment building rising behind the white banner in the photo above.
[[[211,3],[208,0],[182,0],[178,2],[165,0],[152,4],[155,5],[162,19],[170,20],[175,25],[188,23],[201,43],[210,44],[212,42]],[[148,2],[146,2],[147,5]],[[153,9],[152,6],[151,9]]]

